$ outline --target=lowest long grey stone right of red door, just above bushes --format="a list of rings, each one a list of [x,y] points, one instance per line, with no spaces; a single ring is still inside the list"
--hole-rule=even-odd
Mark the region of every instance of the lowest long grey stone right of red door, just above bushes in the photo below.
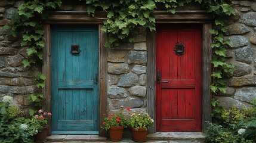
[[[242,102],[239,100],[235,100],[231,97],[215,97],[218,101],[220,101],[220,105],[225,108],[226,110],[229,110],[233,107],[233,105],[236,105],[240,110],[242,110],[244,107],[250,107],[251,104],[248,104],[246,102]]]

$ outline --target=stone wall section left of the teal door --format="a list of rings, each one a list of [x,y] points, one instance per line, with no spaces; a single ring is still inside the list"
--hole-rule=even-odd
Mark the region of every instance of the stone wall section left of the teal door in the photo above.
[[[14,18],[13,13],[19,4],[16,2],[14,7],[10,7],[7,1],[0,1],[0,100],[9,95],[14,98],[14,103],[26,108],[29,105],[27,95],[36,89],[33,77],[41,68],[23,67],[21,61],[28,58],[27,47],[20,46],[20,36],[7,36],[7,31],[2,30]]]

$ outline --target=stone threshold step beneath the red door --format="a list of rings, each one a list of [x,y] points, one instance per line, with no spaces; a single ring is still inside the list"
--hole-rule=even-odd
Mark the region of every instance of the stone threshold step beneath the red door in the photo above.
[[[205,135],[203,132],[156,132],[147,135],[149,139],[175,139],[175,140],[190,140],[203,141]]]

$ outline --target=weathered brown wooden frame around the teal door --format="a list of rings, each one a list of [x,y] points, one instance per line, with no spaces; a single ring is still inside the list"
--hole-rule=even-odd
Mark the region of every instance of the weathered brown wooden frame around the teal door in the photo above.
[[[55,11],[51,13],[50,17],[44,21],[44,64],[42,66],[42,73],[47,77],[45,79],[44,100],[42,102],[43,109],[47,112],[52,111],[51,105],[51,24],[98,24],[99,42],[98,42],[98,58],[99,58],[99,136],[106,136],[105,129],[100,128],[103,126],[104,116],[107,110],[107,48],[104,47],[104,43],[107,41],[107,33],[104,33],[101,29],[103,26],[103,19],[94,17],[88,17],[86,12],[70,12]],[[51,135],[51,119],[49,119],[48,135]]]

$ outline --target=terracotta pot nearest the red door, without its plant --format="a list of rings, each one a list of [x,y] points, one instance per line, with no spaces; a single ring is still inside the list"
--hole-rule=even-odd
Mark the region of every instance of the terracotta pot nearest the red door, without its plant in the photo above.
[[[131,128],[132,130],[132,135],[133,135],[133,141],[135,142],[144,142],[147,141],[147,130],[145,130],[144,128],[138,128],[138,130],[136,130],[135,128]]]

